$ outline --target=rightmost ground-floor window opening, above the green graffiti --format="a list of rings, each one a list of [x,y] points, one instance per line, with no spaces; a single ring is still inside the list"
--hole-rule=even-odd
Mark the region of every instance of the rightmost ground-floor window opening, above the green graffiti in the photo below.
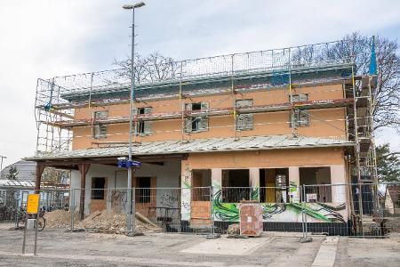
[[[300,167],[299,174],[300,185],[306,185],[307,202],[332,202],[330,167]]]

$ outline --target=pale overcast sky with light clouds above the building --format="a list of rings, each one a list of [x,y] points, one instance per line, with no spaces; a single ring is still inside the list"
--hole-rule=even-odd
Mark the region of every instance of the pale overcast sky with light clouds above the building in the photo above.
[[[352,31],[400,36],[400,1],[148,0],[136,12],[137,52],[176,60],[312,44]],[[121,0],[1,0],[0,155],[36,150],[36,79],[112,69],[130,54]],[[391,131],[379,142],[400,148]]]

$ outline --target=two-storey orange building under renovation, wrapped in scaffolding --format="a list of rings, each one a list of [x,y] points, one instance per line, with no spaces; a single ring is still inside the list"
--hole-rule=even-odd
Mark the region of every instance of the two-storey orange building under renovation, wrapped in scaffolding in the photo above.
[[[377,177],[376,76],[356,75],[347,45],[137,66],[136,210],[173,217],[174,231],[211,221],[227,227],[240,200],[256,199],[265,230],[295,230],[307,198],[310,225],[348,231],[371,212],[352,200],[360,190],[373,198],[362,183]],[[127,187],[117,158],[128,156],[130,83],[130,69],[38,79],[37,152],[28,158],[37,162],[37,189],[45,166],[70,169],[71,201],[82,214],[113,206],[109,197]],[[361,184],[333,186],[350,182]]]

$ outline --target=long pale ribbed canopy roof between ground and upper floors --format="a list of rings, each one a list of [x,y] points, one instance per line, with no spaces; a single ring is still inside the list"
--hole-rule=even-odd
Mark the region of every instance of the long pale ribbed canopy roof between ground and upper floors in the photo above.
[[[235,138],[196,139],[188,142],[160,141],[133,144],[133,156],[170,155],[199,152],[242,151],[242,150],[278,150],[322,147],[352,146],[353,142],[329,138],[292,135],[248,136]],[[54,154],[38,155],[28,160],[63,159],[63,158],[109,158],[128,155],[128,146],[108,147],[87,150],[61,151]]]

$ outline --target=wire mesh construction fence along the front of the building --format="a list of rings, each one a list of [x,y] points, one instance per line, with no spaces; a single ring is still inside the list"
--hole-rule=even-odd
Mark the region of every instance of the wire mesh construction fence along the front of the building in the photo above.
[[[18,226],[28,190],[0,190],[0,223]],[[225,233],[240,203],[262,207],[263,231],[383,237],[400,232],[400,183],[280,187],[41,190],[46,228]],[[135,214],[135,215],[133,215]],[[249,219],[250,220],[250,219]]]

